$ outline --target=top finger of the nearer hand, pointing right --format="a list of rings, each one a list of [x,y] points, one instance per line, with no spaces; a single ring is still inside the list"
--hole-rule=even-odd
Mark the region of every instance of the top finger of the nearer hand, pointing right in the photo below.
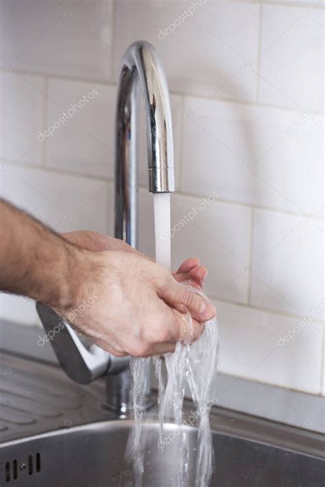
[[[215,307],[204,296],[194,293],[173,278],[168,279],[165,285],[158,288],[158,296],[181,313],[184,313],[186,307],[192,318],[199,322],[210,320],[215,316]]]

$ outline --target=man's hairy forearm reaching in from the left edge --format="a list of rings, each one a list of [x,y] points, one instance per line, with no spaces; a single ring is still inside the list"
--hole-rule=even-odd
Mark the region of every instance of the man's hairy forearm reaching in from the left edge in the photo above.
[[[0,215],[0,290],[71,306],[80,249],[3,200]]]

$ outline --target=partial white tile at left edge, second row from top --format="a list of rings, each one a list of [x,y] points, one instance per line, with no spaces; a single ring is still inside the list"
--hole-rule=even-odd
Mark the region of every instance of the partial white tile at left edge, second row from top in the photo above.
[[[0,157],[5,161],[40,164],[45,85],[43,78],[0,73]]]

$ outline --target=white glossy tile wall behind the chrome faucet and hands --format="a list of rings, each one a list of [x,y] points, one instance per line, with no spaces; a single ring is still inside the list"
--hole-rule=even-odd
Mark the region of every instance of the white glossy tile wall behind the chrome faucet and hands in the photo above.
[[[325,24],[324,2],[315,2],[208,0],[186,17],[188,0],[3,1],[0,188],[58,231],[112,235],[115,82],[125,48],[149,40],[171,88],[173,228],[218,193],[176,231],[172,254],[174,268],[195,255],[208,267],[221,370],[325,395],[321,313],[277,344],[324,294]],[[94,88],[97,96],[38,142],[39,130]],[[140,211],[140,247],[154,255],[146,189]],[[38,322],[29,300],[2,295],[0,309],[8,320]]]

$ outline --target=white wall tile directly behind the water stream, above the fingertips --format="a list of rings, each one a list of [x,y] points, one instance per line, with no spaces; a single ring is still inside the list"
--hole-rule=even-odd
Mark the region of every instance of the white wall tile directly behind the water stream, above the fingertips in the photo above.
[[[154,256],[153,202],[147,191],[141,191],[140,212],[140,250]],[[206,204],[176,193],[171,195],[171,226],[173,268],[189,257],[199,257],[208,268],[205,291],[209,296],[246,302],[250,209],[219,202]]]

